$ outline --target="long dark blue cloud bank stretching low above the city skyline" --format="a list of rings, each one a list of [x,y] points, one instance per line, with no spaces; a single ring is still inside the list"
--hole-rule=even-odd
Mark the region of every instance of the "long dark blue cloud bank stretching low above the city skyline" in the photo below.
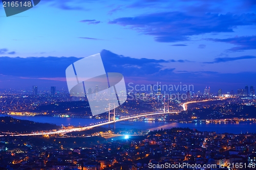
[[[256,84],[256,72],[240,72],[237,74],[220,74],[212,71],[175,72],[175,63],[189,62],[187,60],[136,59],[114,54],[107,50],[101,51],[106,72],[120,72],[127,83],[135,84],[193,84],[195,91],[211,85],[212,89],[221,87],[242,88],[246,84]],[[234,58],[216,58],[214,62],[221,63],[242,59],[255,59],[255,56]],[[67,87],[66,68],[81,58],[76,57],[0,57],[0,88],[16,88],[38,86]],[[163,68],[169,63],[173,67]],[[97,69],[97,68],[95,68]],[[92,70],[93,71],[93,70]],[[230,90],[230,89],[229,89]]]

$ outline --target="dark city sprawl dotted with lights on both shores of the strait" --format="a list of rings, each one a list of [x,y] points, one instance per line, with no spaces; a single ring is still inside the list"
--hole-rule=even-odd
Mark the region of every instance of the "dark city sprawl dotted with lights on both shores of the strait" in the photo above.
[[[95,91],[95,95],[97,92]],[[176,96],[175,96],[176,95]],[[115,120],[145,113],[165,113],[131,119],[136,122],[255,123],[253,86],[222,93],[185,91],[163,94],[130,92],[115,109]],[[174,97],[175,96],[175,97]],[[186,96],[186,98],[182,98]],[[129,98],[132,100],[129,100]],[[182,104],[188,103],[187,106]],[[75,126],[35,123],[10,116],[54,116],[98,119],[108,122],[109,113],[92,116],[87,99],[68,92],[2,90],[0,94],[0,169],[99,170],[99,169],[254,169],[256,134],[219,133],[189,128],[147,130],[95,127],[80,132],[19,136],[56,132]],[[177,111],[176,113],[168,113]],[[113,120],[114,117],[111,117]]]

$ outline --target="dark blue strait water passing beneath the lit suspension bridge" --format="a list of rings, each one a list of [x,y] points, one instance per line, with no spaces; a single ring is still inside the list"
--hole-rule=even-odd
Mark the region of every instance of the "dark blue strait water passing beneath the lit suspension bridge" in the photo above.
[[[7,116],[7,115],[0,115]],[[51,123],[63,126],[89,126],[91,123],[103,122],[105,119],[91,119],[91,118],[70,118],[70,117],[50,117],[50,116],[11,116],[17,119],[32,120],[39,123]],[[111,125],[113,126],[113,125]],[[182,124],[182,123],[170,123],[170,122],[117,122],[116,128],[125,129],[170,129],[174,127],[197,129],[199,131],[215,131],[218,133],[256,133],[256,123],[221,123],[221,124]]]

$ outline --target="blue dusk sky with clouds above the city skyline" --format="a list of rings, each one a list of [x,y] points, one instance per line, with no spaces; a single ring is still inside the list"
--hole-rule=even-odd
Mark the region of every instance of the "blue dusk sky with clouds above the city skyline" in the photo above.
[[[0,88],[67,88],[67,66],[101,53],[126,84],[236,92],[256,85],[255,12],[255,0],[41,0],[10,17],[1,5]]]

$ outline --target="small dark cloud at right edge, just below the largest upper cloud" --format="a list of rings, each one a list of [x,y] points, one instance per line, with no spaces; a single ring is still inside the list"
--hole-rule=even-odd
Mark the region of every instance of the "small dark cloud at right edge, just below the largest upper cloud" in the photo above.
[[[226,42],[234,45],[238,45],[236,47],[232,47],[228,49],[233,52],[242,52],[244,50],[253,50],[256,49],[256,36],[241,36],[241,37],[233,37],[226,39],[208,39],[215,42]]]

